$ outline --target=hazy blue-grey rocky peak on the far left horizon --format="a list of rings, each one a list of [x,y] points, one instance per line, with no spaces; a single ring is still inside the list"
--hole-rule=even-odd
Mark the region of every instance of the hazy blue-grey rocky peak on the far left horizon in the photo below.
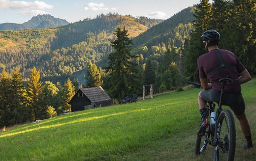
[[[4,23],[0,24],[0,30],[22,30],[30,28],[51,28],[68,25],[66,20],[55,18],[51,15],[37,15],[23,24]]]

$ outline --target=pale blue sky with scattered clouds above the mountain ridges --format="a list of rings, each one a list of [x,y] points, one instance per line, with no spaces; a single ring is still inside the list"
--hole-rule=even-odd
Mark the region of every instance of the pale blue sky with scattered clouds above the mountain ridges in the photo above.
[[[210,0],[211,1],[211,0]],[[100,13],[167,19],[199,0],[0,0],[0,23],[24,23],[38,14],[76,22]]]

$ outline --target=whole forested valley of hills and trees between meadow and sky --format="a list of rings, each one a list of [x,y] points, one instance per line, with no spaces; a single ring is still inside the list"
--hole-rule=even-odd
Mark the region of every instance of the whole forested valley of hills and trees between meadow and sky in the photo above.
[[[0,126],[70,110],[68,99],[79,86],[102,85],[117,101],[141,95],[142,85],[154,84],[154,93],[182,90],[185,80],[198,80],[196,60],[207,52],[200,37],[207,29],[218,30],[220,48],[256,73],[252,0],[200,0],[164,21],[109,13],[64,27],[0,31]],[[124,68],[116,73],[120,63]]]

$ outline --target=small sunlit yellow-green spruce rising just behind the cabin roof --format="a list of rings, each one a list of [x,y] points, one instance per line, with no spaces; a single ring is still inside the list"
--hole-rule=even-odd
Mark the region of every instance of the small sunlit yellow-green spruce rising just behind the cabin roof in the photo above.
[[[89,61],[87,69],[87,87],[97,87],[102,84],[100,73],[97,69],[97,66]]]

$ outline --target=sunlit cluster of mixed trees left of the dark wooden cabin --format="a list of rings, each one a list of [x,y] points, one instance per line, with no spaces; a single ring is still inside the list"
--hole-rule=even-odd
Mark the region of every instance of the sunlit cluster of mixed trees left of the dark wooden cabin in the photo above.
[[[0,74],[0,127],[54,117],[70,111],[69,100],[75,87],[71,80],[62,86],[39,81],[39,71],[33,67],[28,81],[17,69]]]

